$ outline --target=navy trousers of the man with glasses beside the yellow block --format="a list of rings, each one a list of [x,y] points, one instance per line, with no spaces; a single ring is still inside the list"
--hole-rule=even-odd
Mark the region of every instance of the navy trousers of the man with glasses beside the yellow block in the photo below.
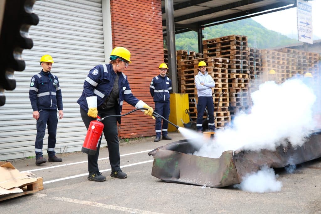
[[[155,102],[155,112],[163,116],[165,119],[168,120],[169,118],[169,102]],[[160,138],[160,133],[163,136],[167,136],[168,134],[168,122],[166,120],[163,120],[163,126],[161,125],[161,118],[156,118],[155,122],[155,131],[156,131],[156,137]]]

